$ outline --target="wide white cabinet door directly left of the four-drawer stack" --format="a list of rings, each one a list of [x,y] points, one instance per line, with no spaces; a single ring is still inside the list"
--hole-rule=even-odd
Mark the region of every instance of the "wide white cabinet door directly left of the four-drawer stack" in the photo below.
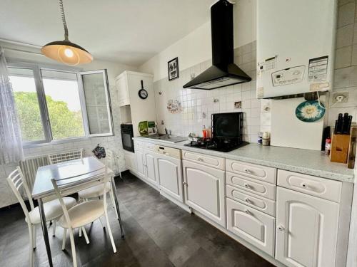
[[[224,171],[187,160],[182,162],[186,204],[226,227]]]

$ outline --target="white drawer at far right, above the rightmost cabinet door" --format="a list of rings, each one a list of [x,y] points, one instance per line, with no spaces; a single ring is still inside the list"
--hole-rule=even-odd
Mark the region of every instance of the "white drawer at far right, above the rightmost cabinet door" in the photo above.
[[[330,179],[279,169],[278,185],[335,202],[341,199],[342,182]]]

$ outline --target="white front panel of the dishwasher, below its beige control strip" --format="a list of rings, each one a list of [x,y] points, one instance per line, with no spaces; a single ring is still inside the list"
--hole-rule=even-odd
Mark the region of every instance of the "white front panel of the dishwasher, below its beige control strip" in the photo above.
[[[183,202],[181,159],[159,155],[156,162],[160,190]]]

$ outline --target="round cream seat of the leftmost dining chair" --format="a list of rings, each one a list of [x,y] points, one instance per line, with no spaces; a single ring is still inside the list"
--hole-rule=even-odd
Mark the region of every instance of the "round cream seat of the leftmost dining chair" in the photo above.
[[[72,206],[76,205],[77,201],[73,197],[64,197],[64,204],[67,209],[71,209]],[[61,204],[59,199],[54,199],[49,202],[44,203],[44,213],[46,216],[46,221],[50,221],[58,218],[63,214]],[[29,212],[31,224],[39,224],[41,222],[39,207],[36,206],[35,209]],[[27,218],[25,219],[27,222]]]

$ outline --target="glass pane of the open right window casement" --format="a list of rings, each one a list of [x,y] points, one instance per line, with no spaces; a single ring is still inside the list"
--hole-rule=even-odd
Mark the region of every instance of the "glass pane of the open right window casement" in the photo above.
[[[111,134],[111,117],[108,113],[103,73],[83,74],[82,80],[90,134]]]

